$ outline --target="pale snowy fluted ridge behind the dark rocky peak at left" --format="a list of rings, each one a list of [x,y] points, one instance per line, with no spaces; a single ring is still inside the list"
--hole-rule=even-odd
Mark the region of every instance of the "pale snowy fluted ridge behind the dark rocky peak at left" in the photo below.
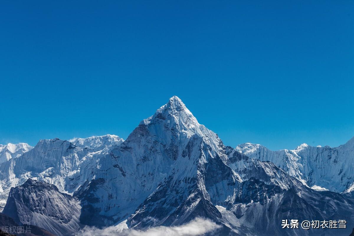
[[[54,184],[63,192],[73,191],[65,188],[65,179],[78,169],[86,153],[65,140],[40,140],[19,158],[0,163],[1,200],[7,199],[11,187],[22,185],[28,178]]]

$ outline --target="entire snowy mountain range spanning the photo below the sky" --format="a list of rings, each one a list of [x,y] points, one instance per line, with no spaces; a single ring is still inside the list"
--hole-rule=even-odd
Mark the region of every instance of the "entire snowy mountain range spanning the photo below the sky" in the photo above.
[[[0,146],[2,213],[54,235],[85,227],[129,235],[195,219],[215,223],[204,235],[347,236],[354,226],[354,139],[337,148],[232,148],[176,96],[126,140],[13,146]],[[347,228],[282,229],[285,219],[346,220]]]

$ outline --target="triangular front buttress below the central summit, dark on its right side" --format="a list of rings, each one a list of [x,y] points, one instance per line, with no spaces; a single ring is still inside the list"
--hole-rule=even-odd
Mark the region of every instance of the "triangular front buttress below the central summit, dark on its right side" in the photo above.
[[[224,201],[232,195],[238,183],[218,151],[213,150],[204,137],[195,134],[184,154],[178,156],[169,177],[145,199],[127,224],[131,228],[147,229],[181,225],[203,217],[222,225],[217,230],[218,235],[228,235],[231,229],[219,222],[222,216],[213,202]]]

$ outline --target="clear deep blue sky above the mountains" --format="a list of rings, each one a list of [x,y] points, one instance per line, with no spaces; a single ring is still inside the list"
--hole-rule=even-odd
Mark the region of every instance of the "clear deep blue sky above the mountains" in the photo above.
[[[353,1],[1,1],[0,22],[0,143],[127,138],[173,95],[226,145],[354,136]]]

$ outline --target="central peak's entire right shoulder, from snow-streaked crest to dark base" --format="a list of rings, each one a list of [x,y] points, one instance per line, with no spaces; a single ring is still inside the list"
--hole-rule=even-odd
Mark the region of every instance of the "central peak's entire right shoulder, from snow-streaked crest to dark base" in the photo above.
[[[228,165],[238,172],[242,183],[228,204],[218,206],[229,225],[241,235],[347,235],[349,230],[282,229],[282,219],[345,219],[352,225],[354,204],[341,194],[315,191],[290,177],[272,162],[229,153]],[[349,226],[350,227],[350,226]],[[300,227],[301,228],[301,227]]]

